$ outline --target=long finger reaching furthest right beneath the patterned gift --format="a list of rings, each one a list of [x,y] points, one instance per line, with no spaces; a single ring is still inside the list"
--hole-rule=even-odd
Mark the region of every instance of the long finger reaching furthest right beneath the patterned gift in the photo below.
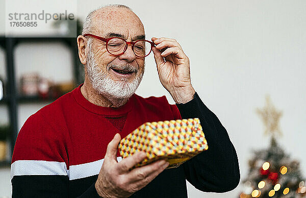
[[[134,181],[150,182],[156,178],[168,165],[169,162],[159,160],[157,162],[133,169],[129,177]]]

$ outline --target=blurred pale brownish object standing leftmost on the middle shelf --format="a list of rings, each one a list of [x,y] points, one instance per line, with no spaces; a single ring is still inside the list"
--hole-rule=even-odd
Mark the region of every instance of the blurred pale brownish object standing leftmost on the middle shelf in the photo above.
[[[21,76],[21,93],[27,96],[38,95],[38,73],[26,73]]]

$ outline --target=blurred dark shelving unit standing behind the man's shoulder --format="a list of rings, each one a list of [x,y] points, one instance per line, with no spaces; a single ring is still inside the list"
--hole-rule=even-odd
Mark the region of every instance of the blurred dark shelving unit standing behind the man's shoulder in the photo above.
[[[9,125],[12,132],[9,135],[10,141],[10,160],[0,161],[0,167],[9,166],[11,164],[11,158],[15,146],[15,141],[18,134],[18,117],[17,108],[21,103],[41,103],[41,102],[53,102],[57,98],[48,97],[40,98],[39,96],[22,96],[18,95],[16,87],[15,77],[15,64],[14,64],[14,51],[18,44],[22,42],[62,42],[70,49],[73,58],[73,83],[75,86],[83,82],[83,68],[79,61],[78,46],[76,38],[64,38],[64,37],[0,37],[0,46],[4,48],[6,53],[6,76],[7,82],[5,83],[6,93],[3,99],[0,101],[0,105],[7,105],[9,112]]]

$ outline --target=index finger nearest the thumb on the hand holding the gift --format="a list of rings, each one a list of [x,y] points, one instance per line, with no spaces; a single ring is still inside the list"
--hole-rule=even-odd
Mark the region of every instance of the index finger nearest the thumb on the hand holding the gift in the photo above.
[[[124,158],[121,160],[118,165],[118,170],[120,173],[127,172],[130,168],[133,168],[136,164],[144,160],[146,154],[144,152],[137,152],[132,156]]]

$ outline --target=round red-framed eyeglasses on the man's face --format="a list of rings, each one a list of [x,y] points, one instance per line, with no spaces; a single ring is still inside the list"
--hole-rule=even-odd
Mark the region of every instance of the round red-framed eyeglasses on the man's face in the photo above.
[[[152,48],[154,46],[154,43],[148,40],[137,40],[134,42],[128,42],[123,38],[119,37],[103,38],[93,34],[84,34],[83,36],[90,36],[106,42],[107,52],[114,56],[122,55],[126,51],[127,45],[131,44],[135,56],[139,58],[144,58],[151,53]]]

